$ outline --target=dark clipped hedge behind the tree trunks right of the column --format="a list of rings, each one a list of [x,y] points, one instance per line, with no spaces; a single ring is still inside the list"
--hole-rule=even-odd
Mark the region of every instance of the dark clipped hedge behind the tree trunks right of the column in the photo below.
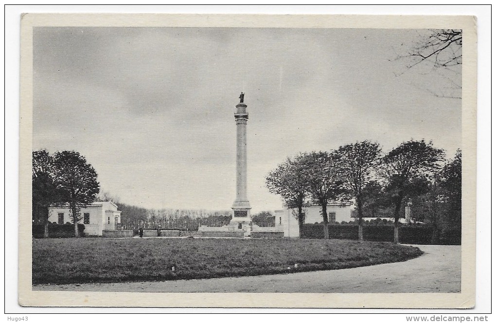
[[[322,224],[303,225],[302,238],[323,239]],[[433,228],[429,226],[401,226],[399,229],[400,243],[432,244]],[[394,240],[393,226],[364,226],[364,240],[390,241]],[[329,225],[331,239],[358,239],[358,226]],[[439,235],[439,244],[460,245],[461,230],[445,230]]]

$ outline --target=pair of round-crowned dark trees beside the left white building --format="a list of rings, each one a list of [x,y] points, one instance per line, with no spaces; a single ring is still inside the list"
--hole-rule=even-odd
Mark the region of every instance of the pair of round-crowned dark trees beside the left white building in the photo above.
[[[32,155],[32,217],[33,224],[44,225],[48,237],[50,206],[69,208],[73,224],[81,220],[80,210],[91,204],[100,191],[97,173],[86,158],[72,150],[33,151]],[[79,235],[78,226],[74,234]]]

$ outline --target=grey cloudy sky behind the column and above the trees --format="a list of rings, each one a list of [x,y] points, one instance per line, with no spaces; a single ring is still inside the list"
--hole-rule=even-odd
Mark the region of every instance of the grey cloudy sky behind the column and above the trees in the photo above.
[[[228,210],[243,91],[252,212],[281,208],[265,176],[298,152],[425,138],[451,158],[461,100],[433,94],[449,83],[436,71],[394,60],[424,33],[37,27],[33,149],[79,151],[127,204]]]

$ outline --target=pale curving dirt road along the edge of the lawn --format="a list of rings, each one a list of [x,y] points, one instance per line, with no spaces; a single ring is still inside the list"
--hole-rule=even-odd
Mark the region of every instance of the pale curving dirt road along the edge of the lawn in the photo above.
[[[173,281],[35,285],[33,290],[252,293],[456,293],[461,247],[416,245],[424,255],[399,263],[295,274]]]

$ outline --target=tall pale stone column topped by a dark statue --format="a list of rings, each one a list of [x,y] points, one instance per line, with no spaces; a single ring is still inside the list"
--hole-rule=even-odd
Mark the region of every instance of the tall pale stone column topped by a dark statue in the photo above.
[[[236,105],[234,118],[236,120],[236,199],[234,200],[233,219],[231,223],[238,223],[247,229],[251,222],[247,192],[247,105],[244,103],[244,93],[241,92],[240,103]]]

